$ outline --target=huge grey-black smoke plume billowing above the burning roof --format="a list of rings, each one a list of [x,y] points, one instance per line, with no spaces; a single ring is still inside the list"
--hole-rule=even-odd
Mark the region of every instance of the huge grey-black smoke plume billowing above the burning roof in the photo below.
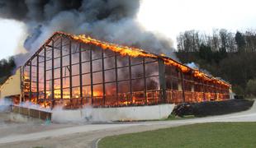
[[[139,0],[0,0],[0,17],[26,23],[29,53],[61,30],[173,56],[169,39],[145,31],[136,21],[139,8]]]

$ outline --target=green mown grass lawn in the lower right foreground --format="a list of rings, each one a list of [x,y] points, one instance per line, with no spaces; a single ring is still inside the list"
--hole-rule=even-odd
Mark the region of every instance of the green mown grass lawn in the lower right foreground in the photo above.
[[[108,136],[99,148],[108,147],[256,147],[256,123],[201,123]]]

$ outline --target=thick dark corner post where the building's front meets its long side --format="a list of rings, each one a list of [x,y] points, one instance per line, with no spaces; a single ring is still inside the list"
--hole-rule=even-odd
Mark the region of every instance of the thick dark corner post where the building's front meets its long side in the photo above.
[[[162,91],[162,103],[166,102],[166,80],[165,80],[165,65],[164,60],[159,58],[159,86]]]

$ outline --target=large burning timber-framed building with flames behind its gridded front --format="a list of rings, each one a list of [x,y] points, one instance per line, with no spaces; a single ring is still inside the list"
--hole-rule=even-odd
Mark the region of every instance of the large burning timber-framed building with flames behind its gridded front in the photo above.
[[[15,102],[51,109],[230,99],[230,84],[172,58],[63,32],[52,35],[18,73]]]

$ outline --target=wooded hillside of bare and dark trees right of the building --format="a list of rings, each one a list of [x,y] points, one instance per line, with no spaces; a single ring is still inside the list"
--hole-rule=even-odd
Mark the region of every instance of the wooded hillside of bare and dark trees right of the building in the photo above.
[[[256,96],[256,31],[225,29],[206,34],[187,30],[177,37],[181,62],[201,68],[229,81],[237,95]]]

